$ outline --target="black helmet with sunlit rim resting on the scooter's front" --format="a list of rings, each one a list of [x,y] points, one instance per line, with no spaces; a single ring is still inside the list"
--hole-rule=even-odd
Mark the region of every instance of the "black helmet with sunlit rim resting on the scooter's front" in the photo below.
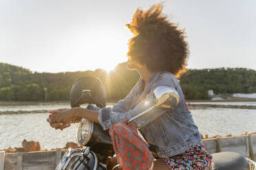
[[[100,108],[106,106],[106,91],[103,83],[97,77],[79,77],[70,90],[71,107],[81,104],[96,104]]]

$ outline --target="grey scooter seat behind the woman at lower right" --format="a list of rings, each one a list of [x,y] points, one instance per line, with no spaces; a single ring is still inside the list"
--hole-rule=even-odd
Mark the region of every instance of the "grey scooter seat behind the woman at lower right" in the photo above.
[[[213,155],[213,169],[237,170],[249,169],[247,160],[241,154],[233,151],[224,151]]]

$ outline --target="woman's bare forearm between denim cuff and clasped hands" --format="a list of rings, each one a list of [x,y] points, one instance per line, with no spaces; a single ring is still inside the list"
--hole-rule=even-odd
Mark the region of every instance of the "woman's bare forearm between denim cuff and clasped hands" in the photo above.
[[[76,108],[76,116],[84,119],[88,119],[89,121],[94,121],[99,123],[98,121],[98,110],[89,110],[87,108]]]

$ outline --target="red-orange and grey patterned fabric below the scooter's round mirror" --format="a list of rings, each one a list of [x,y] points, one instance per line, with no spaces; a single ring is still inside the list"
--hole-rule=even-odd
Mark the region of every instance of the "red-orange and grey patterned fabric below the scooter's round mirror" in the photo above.
[[[125,170],[147,170],[153,166],[149,144],[139,135],[134,122],[114,123],[110,129],[111,142],[119,167]]]

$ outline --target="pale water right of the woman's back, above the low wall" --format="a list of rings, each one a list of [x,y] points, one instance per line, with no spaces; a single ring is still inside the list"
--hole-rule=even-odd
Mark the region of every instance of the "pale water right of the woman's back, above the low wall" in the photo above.
[[[256,132],[256,110],[235,108],[190,110],[202,134],[226,136]]]

